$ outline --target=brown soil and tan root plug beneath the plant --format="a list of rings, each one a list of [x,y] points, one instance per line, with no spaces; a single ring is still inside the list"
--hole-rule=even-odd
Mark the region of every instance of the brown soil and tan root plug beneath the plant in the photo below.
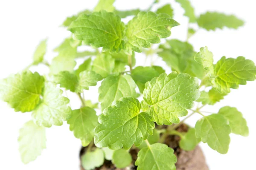
[[[166,125],[158,126],[158,129],[167,128]],[[176,128],[179,132],[187,132],[188,126],[185,124],[180,125]],[[166,137],[165,144],[174,149],[174,153],[177,156],[176,170],[209,170],[207,167],[204,154],[199,146],[192,151],[185,151],[179,147],[180,137],[176,135],[170,135]],[[80,158],[85,153],[86,147],[82,147],[80,151]],[[132,156],[133,162],[131,166],[123,169],[116,168],[111,161],[105,160],[104,164],[101,167],[95,168],[95,170],[137,170],[137,166],[134,165],[134,162],[137,160],[137,154],[139,149],[131,148],[130,154]],[[81,166],[81,170],[84,168]]]

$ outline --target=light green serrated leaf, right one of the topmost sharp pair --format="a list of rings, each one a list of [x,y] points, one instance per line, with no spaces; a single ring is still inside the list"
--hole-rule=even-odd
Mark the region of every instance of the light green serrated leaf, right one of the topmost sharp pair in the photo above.
[[[155,14],[154,12],[140,12],[127,24],[127,49],[142,52],[141,48],[150,48],[151,43],[160,43],[160,38],[171,35],[170,29],[178,26],[168,14]],[[131,51],[130,51],[131,53]]]

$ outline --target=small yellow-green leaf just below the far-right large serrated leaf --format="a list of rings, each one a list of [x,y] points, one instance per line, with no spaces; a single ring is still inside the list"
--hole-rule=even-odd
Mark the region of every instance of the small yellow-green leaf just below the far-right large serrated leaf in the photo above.
[[[201,91],[201,95],[197,102],[202,102],[203,105],[214,105],[216,102],[224,99],[224,96],[226,95],[227,94],[220,93],[216,88],[212,88],[209,92]]]

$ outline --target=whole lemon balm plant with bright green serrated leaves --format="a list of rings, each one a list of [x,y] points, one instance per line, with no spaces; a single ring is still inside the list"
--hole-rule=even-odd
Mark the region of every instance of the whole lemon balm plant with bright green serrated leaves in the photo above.
[[[217,12],[196,16],[189,0],[176,2],[184,8],[189,23],[198,28],[238,28],[244,24],[233,15]],[[220,102],[231,88],[255,80],[253,61],[240,56],[214,62],[206,46],[196,52],[189,42],[174,39],[166,39],[153,49],[151,44],[160,43],[160,39],[171,35],[172,27],[180,25],[172,19],[172,6],[166,4],[151,11],[156,0],[147,11],[119,11],[113,3],[99,0],[93,11],[68,17],[63,26],[72,36],[55,48],[58,56],[50,64],[44,59],[47,40],[43,40],[32,64],[0,81],[3,101],[16,112],[31,112],[32,120],[24,124],[18,137],[25,164],[46,148],[45,128],[60,126],[64,121],[81,139],[81,168],[85,170],[178,170],[180,154],[198,149],[199,142],[225,154],[230,133],[248,135],[247,123],[236,108],[225,106],[218,113],[204,113],[201,109]],[[125,24],[122,18],[128,16],[134,17]],[[195,32],[188,28],[187,40]],[[86,45],[92,50],[78,51],[78,47]],[[172,72],[167,74],[154,64],[135,67],[136,54],[141,52],[148,57],[157,54]],[[74,69],[77,58],[84,62]],[[49,66],[49,74],[29,71],[30,66],[39,64]],[[83,95],[99,81],[95,94],[99,93],[100,105]],[[63,90],[77,94],[81,108],[72,110]],[[195,102],[198,107],[192,109]],[[101,112],[99,116],[96,109]],[[202,118],[195,127],[189,127],[184,121],[193,114]],[[185,118],[180,121],[180,117]],[[197,166],[199,161],[194,164],[191,170],[208,169],[206,165]]]

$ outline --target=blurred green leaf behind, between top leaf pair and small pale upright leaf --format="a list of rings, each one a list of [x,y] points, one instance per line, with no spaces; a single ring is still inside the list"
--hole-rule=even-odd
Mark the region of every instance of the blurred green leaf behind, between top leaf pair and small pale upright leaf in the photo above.
[[[160,45],[161,52],[157,54],[163,58],[172,68],[172,71],[178,73],[187,73],[190,76],[202,79],[205,75],[203,67],[195,61],[195,51],[191,44],[180,40],[167,40],[167,46]]]

